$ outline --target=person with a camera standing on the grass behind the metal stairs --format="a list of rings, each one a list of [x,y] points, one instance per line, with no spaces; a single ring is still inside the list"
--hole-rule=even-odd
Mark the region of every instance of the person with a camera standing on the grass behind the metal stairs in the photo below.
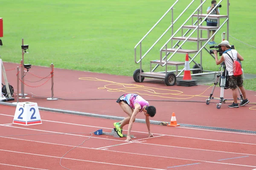
[[[212,11],[212,9],[215,7],[217,1],[216,0],[212,0],[212,6],[209,6],[207,8],[207,14],[209,14],[210,11]],[[212,13],[212,15],[219,15],[220,14],[220,10],[218,9],[218,7],[216,7]],[[206,20],[207,22],[207,26],[217,26],[218,24],[218,20],[217,19],[208,19]],[[215,33],[216,30],[212,30],[212,34]],[[210,31],[210,34],[211,34],[211,31]],[[209,45],[213,45],[213,44],[217,44],[215,41],[214,41],[214,37],[212,37],[212,41],[208,42]]]

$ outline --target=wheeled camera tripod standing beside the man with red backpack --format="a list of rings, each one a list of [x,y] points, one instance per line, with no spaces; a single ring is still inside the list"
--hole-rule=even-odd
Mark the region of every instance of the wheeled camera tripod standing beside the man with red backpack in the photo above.
[[[211,94],[209,96],[209,99],[206,100],[206,104],[207,105],[210,104],[211,99],[214,99],[214,97],[212,97],[212,95],[213,95],[213,92],[214,92],[214,89],[215,89],[216,85],[218,85],[218,80],[219,79],[220,79],[221,95],[220,95],[220,98],[219,98],[220,102],[217,103],[217,109],[220,109],[222,103],[225,103],[225,101],[233,100],[233,99],[224,99],[224,89],[228,89],[229,88],[228,84],[226,85],[226,83],[228,83],[227,82],[228,73],[227,73],[226,66],[225,66],[224,62],[221,62],[221,66],[220,66],[220,68],[218,70],[218,75],[217,75],[217,77],[215,79],[215,82],[214,82],[214,85],[213,85],[213,88],[212,88],[212,92],[211,92]],[[240,97],[241,97],[241,98],[238,98],[238,99],[241,99],[241,101],[242,101],[243,100],[243,95],[241,94],[241,91],[240,91],[239,87],[237,89],[238,89]]]

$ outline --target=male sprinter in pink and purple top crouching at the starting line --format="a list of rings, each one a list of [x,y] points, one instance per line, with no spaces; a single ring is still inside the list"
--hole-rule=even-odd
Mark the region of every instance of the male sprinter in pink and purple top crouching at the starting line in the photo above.
[[[150,131],[150,121],[149,116],[154,117],[156,113],[156,108],[154,106],[149,106],[148,102],[137,94],[124,94],[119,99],[116,100],[119,103],[122,110],[128,114],[128,117],[123,119],[120,122],[114,123],[116,127],[116,132],[120,137],[122,137],[122,128],[129,124],[128,134],[125,141],[131,140],[131,127],[135,121],[135,117],[139,112],[144,112],[146,125],[148,127],[148,137],[153,137],[153,134]]]

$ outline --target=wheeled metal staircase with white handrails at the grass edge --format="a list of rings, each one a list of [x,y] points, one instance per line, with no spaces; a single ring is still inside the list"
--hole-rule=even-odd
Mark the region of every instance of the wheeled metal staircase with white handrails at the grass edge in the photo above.
[[[189,3],[188,6],[180,13],[180,15],[174,20],[173,18],[173,9],[174,6],[178,3],[179,0],[176,0],[175,3],[166,11],[166,13],[160,18],[160,20],[157,21],[157,23],[148,31],[147,34],[135,45],[134,52],[135,52],[135,62],[140,63],[140,68],[134,71],[134,81],[135,82],[143,82],[145,77],[150,78],[156,78],[156,79],[164,79],[164,82],[166,85],[175,85],[176,78],[177,77],[183,77],[182,73],[184,71],[184,68],[179,70],[178,67],[185,65],[185,62],[179,62],[179,61],[173,61],[175,58],[175,54],[189,54],[189,58],[191,62],[194,62],[195,65],[190,69],[192,71],[192,76],[199,76],[203,74],[216,74],[215,71],[206,71],[203,70],[202,65],[202,50],[205,49],[208,53],[209,50],[205,47],[208,42],[212,39],[212,37],[227,23],[227,40],[229,35],[229,0],[220,0],[218,4],[212,9],[212,11],[222,2],[227,1],[227,15],[212,15],[210,11],[209,14],[203,14],[203,4],[206,2],[206,0],[201,0],[200,5],[195,9],[195,11],[192,12],[192,14],[186,19],[186,21],[175,31],[174,33],[174,24],[177,22],[177,20],[180,19],[180,17],[187,11],[187,9],[192,6],[192,4],[195,2],[195,0],[192,0],[191,3]],[[198,0],[197,0],[198,1]],[[157,26],[157,24],[163,20],[163,18],[169,13],[169,11],[172,12],[172,23],[171,25],[166,29],[166,31],[163,32],[163,34],[158,38],[156,42],[145,52],[145,54],[142,55],[142,42],[145,40],[145,38],[148,36],[149,33]],[[205,10],[206,11],[206,10]],[[193,18],[196,18],[195,22],[193,22]],[[214,26],[202,26],[205,20],[207,18],[211,19],[217,19],[218,25],[216,27]],[[224,22],[220,23],[220,19],[224,18]],[[189,20],[192,20],[191,25],[187,25],[187,22]],[[171,29],[171,30],[170,30]],[[184,30],[187,31],[184,31]],[[207,31],[207,37],[203,37],[202,31]],[[210,36],[209,31],[216,30],[215,33]],[[169,38],[169,40],[166,41],[166,43],[160,48],[160,59],[151,60],[150,61],[150,72],[144,72],[142,69],[142,60],[145,58],[145,56],[151,51],[151,49],[160,41],[160,39],[168,32],[172,31],[172,36]],[[178,36],[177,34],[181,32],[181,36]],[[183,33],[184,32],[184,33]],[[194,33],[197,33],[197,36],[192,37]],[[173,40],[177,41],[173,45]],[[182,46],[186,42],[196,42],[196,49],[183,49]],[[180,44],[181,43],[181,44]],[[137,48],[140,48],[140,59],[137,60]],[[194,54],[192,57],[191,54]],[[195,62],[195,57],[200,54],[200,63]],[[209,53],[210,54],[210,53]],[[212,54],[211,54],[212,55]],[[185,56],[185,55],[184,55]],[[214,56],[212,55],[214,58]],[[152,68],[152,64],[156,65],[154,68]],[[175,66],[176,70],[168,71],[167,65]],[[158,67],[165,67],[165,71],[159,71],[157,72]]]

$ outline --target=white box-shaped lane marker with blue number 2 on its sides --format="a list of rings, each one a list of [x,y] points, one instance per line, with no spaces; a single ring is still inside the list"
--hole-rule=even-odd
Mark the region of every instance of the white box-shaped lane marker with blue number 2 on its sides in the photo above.
[[[18,102],[12,123],[25,126],[42,124],[37,103]]]

